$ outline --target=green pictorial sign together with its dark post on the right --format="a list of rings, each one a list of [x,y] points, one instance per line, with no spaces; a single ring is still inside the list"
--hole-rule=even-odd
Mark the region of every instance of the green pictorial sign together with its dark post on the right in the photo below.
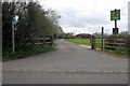
[[[115,20],[115,28],[113,28],[113,34],[118,34],[117,20],[120,19],[120,10],[110,11],[110,20]]]

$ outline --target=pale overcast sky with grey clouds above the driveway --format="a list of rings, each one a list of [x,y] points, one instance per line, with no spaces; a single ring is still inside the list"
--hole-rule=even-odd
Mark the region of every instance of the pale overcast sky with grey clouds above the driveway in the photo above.
[[[64,32],[112,33],[110,11],[120,9],[119,32],[128,30],[128,2],[130,0],[39,0],[46,9],[56,10],[62,16],[60,26]]]

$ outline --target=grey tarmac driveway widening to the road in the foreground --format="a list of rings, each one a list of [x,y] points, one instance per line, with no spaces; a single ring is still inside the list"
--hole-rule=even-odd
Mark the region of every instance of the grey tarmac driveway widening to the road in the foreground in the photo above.
[[[3,84],[127,84],[128,59],[56,41],[54,52],[3,62]]]

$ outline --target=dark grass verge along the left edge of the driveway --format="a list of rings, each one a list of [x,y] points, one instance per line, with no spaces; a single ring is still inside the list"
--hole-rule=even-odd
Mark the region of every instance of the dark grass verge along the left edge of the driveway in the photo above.
[[[55,44],[52,46],[50,45],[35,45],[34,47],[27,49],[27,51],[17,51],[15,54],[12,53],[12,51],[6,51],[2,53],[2,61],[8,61],[8,60],[14,60],[14,59],[21,59],[25,58],[28,56],[37,55],[40,53],[46,53],[46,52],[51,52],[55,47]]]

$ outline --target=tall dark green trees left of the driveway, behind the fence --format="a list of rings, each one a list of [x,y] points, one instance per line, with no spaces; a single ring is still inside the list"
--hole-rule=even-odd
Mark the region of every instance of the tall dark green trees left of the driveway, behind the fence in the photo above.
[[[35,38],[56,38],[63,33],[58,26],[61,16],[54,10],[46,10],[38,2],[2,3],[2,47],[12,48],[12,19],[18,17],[15,27],[15,48],[27,49]],[[27,40],[28,39],[28,40]]]

